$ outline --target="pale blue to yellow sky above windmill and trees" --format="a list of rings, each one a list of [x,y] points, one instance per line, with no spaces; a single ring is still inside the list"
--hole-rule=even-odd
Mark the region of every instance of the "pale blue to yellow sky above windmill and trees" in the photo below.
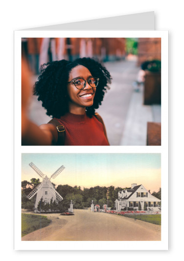
[[[61,165],[65,170],[51,182],[81,188],[94,186],[130,187],[142,184],[147,190],[161,187],[160,153],[23,153],[22,180],[42,178],[29,166],[51,176]]]

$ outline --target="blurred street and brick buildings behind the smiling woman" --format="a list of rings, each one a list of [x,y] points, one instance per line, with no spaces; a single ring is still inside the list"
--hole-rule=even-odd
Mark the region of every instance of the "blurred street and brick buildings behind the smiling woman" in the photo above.
[[[161,38],[22,38],[22,55],[32,86],[48,61],[100,60],[113,78],[96,110],[110,145],[161,145]],[[50,120],[33,95],[28,114],[38,125]]]

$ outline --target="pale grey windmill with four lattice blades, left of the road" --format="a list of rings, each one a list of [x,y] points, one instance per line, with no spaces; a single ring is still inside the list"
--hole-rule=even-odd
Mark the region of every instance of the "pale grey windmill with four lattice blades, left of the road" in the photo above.
[[[43,197],[43,201],[45,203],[50,203],[51,198],[53,198],[53,201],[62,201],[63,198],[61,195],[55,190],[54,186],[50,182],[51,178],[55,178],[57,175],[59,175],[65,167],[62,165],[56,172],[54,172],[50,178],[48,178],[46,175],[44,175],[32,162],[29,163],[29,166],[39,175],[43,178],[43,181],[40,185],[38,185],[31,193],[27,196],[27,198],[30,200],[34,195],[36,196],[36,202],[35,202],[35,208],[37,209],[38,203]]]

